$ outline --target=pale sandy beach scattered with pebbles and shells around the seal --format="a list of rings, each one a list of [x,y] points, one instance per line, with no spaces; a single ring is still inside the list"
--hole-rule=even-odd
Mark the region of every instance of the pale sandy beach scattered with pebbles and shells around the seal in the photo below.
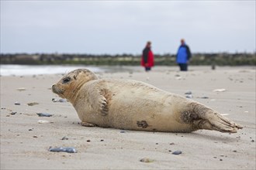
[[[180,72],[176,66],[156,66],[150,73],[130,67],[97,75],[140,80],[184,97],[191,91],[192,100],[244,128],[225,134],[82,127],[70,103],[53,102],[61,98],[50,88],[63,75],[1,76],[1,169],[256,168],[255,67],[189,66],[188,72]],[[74,147],[78,153],[48,151],[50,147]],[[182,154],[173,155],[174,151]],[[149,162],[141,162],[143,158]]]

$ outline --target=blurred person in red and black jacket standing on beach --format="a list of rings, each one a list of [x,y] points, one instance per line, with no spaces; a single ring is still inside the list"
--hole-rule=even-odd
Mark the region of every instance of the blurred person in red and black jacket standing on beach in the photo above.
[[[146,47],[143,50],[142,56],[141,56],[141,66],[145,67],[146,71],[150,71],[151,67],[154,66],[154,54],[151,51],[151,42],[147,42]]]

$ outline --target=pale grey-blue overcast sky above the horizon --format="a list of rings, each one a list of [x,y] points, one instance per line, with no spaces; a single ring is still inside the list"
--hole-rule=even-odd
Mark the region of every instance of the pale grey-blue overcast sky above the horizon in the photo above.
[[[1,0],[1,53],[255,53],[255,0]]]

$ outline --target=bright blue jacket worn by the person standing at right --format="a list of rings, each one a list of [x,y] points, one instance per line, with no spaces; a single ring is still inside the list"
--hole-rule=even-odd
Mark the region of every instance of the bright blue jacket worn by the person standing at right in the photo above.
[[[178,48],[178,53],[176,56],[176,63],[188,63],[188,60],[191,57],[189,46],[181,45]]]

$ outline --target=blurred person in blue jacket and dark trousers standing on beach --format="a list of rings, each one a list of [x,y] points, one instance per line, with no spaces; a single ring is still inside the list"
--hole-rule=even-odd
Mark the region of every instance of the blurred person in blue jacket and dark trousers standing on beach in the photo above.
[[[181,71],[187,71],[189,59],[191,58],[192,55],[190,53],[189,46],[185,44],[184,39],[181,39],[181,43],[181,46],[179,46],[178,48],[176,63],[178,63],[178,66],[180,67]]]

